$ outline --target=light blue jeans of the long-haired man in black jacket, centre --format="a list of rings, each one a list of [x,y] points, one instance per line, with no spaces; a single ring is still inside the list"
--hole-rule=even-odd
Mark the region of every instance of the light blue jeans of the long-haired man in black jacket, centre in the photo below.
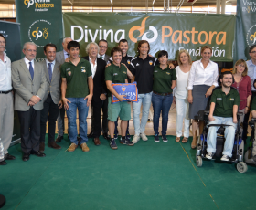
[[[151,105],[152,92],[138,94],[138,102],[133,102],[133,126],[135,135],[144,133],[145,124],[148,120],[148,112]],[[143,105],[143,116],[140,123],[141,106]]]

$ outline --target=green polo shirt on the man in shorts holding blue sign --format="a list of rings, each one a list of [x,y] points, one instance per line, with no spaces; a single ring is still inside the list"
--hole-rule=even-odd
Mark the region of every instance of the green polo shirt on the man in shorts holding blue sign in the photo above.
[[[105,80],[112,81],[112,83],[125,83],[127,79],[127,68],[120,64],[120,68],[115,66],[113,63],[105,70]],[[110,90],[108,90],[108,96],[112,96]]]

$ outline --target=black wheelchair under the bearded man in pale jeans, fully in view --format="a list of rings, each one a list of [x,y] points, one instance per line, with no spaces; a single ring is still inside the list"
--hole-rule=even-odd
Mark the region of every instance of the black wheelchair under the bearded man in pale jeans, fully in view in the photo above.
[[[218,89],[218,88],[219,87],[217,87],[215,89]],[[203,159],[207,159],[206,158],[206,154],[208,153],[207,152],[207,147],[208,147],[207,136],[208,136],[209,127],[211,127],[211,126],[219,127],[219,129],[217,131],[216,152],[212,159],[212,160],[217,160],[217,159],[220,159],[222,156],[222,152],[224,149],[224,142],[225,142],[224,131],[225,131],[225,128],[227,126],[229,126],[229,125],[225,125],[225,124],[208,124],[209,123],[208,114],[209,114],[209,110],[205,110],[204,111],[204,121],[205,121],[206,126],[203,129],[203,133],[197,139],[197,152],[196,152],[197,167],[201,167],[203,165]],[[237,170],[240,173],[245,173],[247,171],[248,167],[247,167],[247,164],[243,162],[244,142],[240,137],[241,136],[241,132],[240,132],[240,116],[241,115],[242,115],[242,113],[238,112],[238,123],[237,123],[237,129],[236,129],[236,133],[235,133],[232,157],[229,159],[228,163],[236,163]]]

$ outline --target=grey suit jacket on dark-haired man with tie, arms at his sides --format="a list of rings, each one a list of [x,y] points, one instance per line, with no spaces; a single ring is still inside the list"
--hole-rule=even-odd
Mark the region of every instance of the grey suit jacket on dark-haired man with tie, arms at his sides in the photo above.
[[[42,66],[44,67],[44,71],[46,74],[46,78],[48,81],[48,88],[46,91],[46,95],[44,96],[45,101],[48,98],[48,94],[50,94],[51,99],[55,104],[59,103],[59,100],[61,99],[61,94],[60,94],[60,85],[61,85],[61,78],[60,78],[60,64],[56,61],[53,72],[52,72],[52,78],[51,81],[49,80],[48,76],[48,66],[46,60],[43,60],[40,62]]]

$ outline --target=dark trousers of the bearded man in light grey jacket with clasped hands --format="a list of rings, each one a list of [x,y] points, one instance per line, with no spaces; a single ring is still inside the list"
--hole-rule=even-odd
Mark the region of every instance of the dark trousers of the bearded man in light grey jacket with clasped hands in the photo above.
[[[25,153],[39,150],[40,110],[30,107],[27,111],[17,111],[20,122],[21,149]]]

